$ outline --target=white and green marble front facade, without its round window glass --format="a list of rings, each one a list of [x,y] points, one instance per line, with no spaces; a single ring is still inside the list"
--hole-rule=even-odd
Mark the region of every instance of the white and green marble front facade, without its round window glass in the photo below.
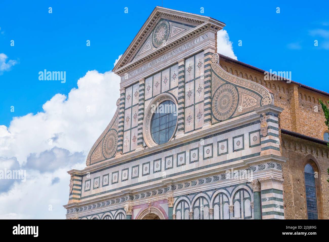
[[[155,8],[114,67],[121,95],[113,120],[87,167],[68,172],[67,218],[254,219],[255,204],[283,205],[282,110],[268,90],[219,66],[215,35],[223,27]],[[145,130],[161,100],[177,105],[177,124],[172,138],[157,145]],[[263,113],[268,136],[261,134]],[[261,193],[257,201],[254,192]],[[283,218],[283,209],[262,216]]]

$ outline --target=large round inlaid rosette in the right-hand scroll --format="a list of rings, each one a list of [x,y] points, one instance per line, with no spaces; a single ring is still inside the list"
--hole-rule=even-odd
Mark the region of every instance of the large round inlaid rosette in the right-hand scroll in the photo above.
[[[238,105],[238,93],[236,89],[226,84],[221,86],[213,97],[213,114],[218,120],[228,119]]]

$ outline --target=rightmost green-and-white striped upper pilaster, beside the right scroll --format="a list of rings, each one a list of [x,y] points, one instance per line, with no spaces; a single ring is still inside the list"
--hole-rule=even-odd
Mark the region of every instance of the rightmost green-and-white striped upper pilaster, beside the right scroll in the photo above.
[[[204,49],[204,123],[203,128],[211,126],[211,56],[215,49],[207,47]]]

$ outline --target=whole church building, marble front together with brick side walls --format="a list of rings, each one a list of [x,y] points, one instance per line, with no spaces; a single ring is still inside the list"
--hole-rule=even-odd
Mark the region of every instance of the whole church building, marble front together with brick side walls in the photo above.
[[[329,219],[329,95],[218,54],[224,26],[154,9],[113,69],[113,119],[68,172],[67,219]]]

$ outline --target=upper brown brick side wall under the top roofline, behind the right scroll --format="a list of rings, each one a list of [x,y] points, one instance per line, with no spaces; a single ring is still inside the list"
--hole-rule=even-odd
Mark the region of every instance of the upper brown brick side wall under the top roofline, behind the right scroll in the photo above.
[[[227,72],[257,82],[273,93],[274,105],[284,108],[280,115],[281,128],[323,139],[323,133],[327,127],[324,124],[324,114],[318,100],[328,101],[328,95],[285,81],[266,81],[264,73],[232,61],[220,59],[219,63]],[[316,106],[318,112],[315,112]]]

